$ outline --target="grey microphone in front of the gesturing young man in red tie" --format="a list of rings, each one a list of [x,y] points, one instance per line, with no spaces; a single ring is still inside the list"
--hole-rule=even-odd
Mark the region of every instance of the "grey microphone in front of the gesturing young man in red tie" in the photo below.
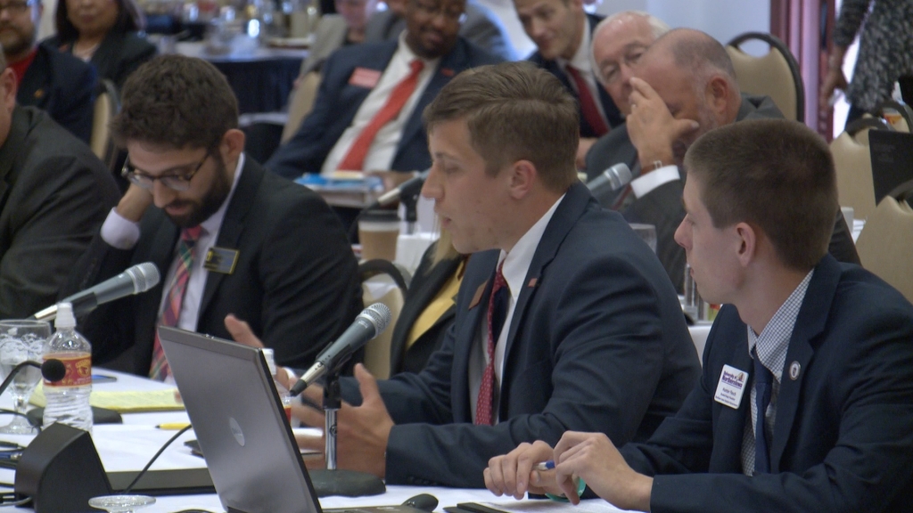
[[[352,357],[353,352],[362,349],[368,340],[372,340],[386,329],[392,317],[390,309],[383,303],[374,303],[363,309],[362,313],[358,314],[358,317],[352,322],[352,326],[345,330],[340,338],[331,343],[327,349],[320,352],[308,372],[305,372],[301,379],[291,387],[289,393],[294,397],[323,374],[339,372],[342,365]]]

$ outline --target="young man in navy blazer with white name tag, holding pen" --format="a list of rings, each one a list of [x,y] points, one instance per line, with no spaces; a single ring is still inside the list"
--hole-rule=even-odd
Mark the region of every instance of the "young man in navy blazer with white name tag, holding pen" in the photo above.
[[[745,120],[685,157],[685,247],[725,303],[704,372],[645,444],[568,432],[494,458],[496,494],[566,493],[579,477],[638,511],[903,511],[913,501],[913,306],[827,254],[837,192],[827,144]],[[554,470],[530,470],[553,460]]]

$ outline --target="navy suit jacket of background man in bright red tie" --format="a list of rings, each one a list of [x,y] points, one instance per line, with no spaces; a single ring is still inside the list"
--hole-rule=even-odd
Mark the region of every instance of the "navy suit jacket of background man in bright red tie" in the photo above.
[[[323,78],[314,109],[301,122],[292,138],[279,147],[266,166],[288,178],[303,173],[320,173],[323,161],[336,141],[352,124],[355,114],[371,89],[349,83],[356,68],[383,71],[396,52],[396,41],[342,47],[323,65]],[[456,46],[441,58],[435,76],[428,82],[422,97],[415,104],[391,165],[394,171],[424,170],[431,166],[428,141],[422,125],[422,111],[460,71],[484,64],[494,64],[497,58],[460,38]]]

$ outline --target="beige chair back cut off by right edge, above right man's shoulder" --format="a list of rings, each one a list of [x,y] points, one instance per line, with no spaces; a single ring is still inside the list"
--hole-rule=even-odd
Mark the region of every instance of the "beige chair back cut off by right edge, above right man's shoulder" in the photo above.
[[[905,201],[886,196],[856,241],[862,266],[913,301],[913,209]]]

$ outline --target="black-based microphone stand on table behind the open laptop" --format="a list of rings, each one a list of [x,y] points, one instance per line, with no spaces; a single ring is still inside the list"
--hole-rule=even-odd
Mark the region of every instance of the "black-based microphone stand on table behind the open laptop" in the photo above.
[[[336,413],[339,412],[341,405],[340,373],[339,371],[328,373],[323,387],[323,414],[325,416],[323,433],[326,436],[323,455],[327,468],[310,472],[311,484],[317,491],[318,497],[332,495],[362,497],[383,494],[386,487],[380,477],[365,472],[336,468]]]

